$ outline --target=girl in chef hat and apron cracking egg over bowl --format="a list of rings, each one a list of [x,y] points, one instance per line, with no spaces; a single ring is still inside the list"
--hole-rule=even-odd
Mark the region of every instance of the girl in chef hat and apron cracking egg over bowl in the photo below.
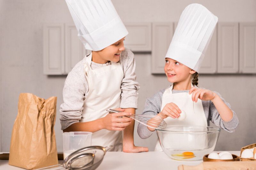
[[[155,114],[167,125],[209,126],[210,120],[228,132],[238,126],[236,113],[219,93],[198,88],[198,72],[218,18],[200,4],[190,4],[182,12],[165,56],[164,72],[171,87],[158,91],[145,103],[142,114]],[[178,117],[186,114],[184,121]],[[138,125],[140,138],[154,129]],[[162,151],[159,142],[155,151]]]

